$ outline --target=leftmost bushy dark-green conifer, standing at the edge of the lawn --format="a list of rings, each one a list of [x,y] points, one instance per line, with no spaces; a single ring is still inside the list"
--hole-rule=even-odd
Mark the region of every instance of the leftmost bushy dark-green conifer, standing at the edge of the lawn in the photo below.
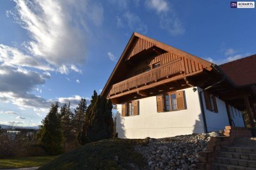
[[[58,107],[58,103],[51,105],[49,113],[42,121],[42,129],[40,129],[40,141],[50,155],[63,153],[63,134]]]

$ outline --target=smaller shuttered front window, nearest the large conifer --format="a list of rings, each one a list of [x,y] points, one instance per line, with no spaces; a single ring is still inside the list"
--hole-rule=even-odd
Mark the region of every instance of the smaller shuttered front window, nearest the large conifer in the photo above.
[[[131,101],[122,104],[122,117],[139,115],[139,101]]]

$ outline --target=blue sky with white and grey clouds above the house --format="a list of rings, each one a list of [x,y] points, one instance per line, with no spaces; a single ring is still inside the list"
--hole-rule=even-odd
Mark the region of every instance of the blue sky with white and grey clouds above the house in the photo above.
[[[90,101],[134,31],[221,64],[256,53],[255,18],[228,0],[0,1],[0,124]]]

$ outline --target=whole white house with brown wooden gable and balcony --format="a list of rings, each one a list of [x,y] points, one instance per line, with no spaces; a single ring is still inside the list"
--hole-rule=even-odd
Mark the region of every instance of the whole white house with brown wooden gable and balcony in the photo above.
[[[255,127],[255,66],[250,66],[253,80],[244,82],[233,73],[236,63],[216,66],[134,32],[101,95],[116,104],[118,138],[165,138],[219,131],[226,125],[244,127],[244,110]]]

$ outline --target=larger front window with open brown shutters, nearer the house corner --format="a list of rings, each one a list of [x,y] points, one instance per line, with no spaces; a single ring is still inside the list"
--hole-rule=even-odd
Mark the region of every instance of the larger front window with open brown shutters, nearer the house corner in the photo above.
[[[157,96],[157,112],[184,110],[184,91]]]

